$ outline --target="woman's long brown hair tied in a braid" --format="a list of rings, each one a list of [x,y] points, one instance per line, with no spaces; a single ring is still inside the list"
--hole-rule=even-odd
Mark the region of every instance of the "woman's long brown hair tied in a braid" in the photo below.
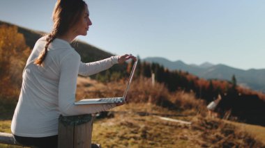
[[[36,65],[42,65],[49,44],[58,36],[64,35],[69,28],[73,27],[84,12],[86,3],[83,0],[58,0],[52,13],[53,28],[52,32],[47,35],[46,44],[43,51],[34,61]]]

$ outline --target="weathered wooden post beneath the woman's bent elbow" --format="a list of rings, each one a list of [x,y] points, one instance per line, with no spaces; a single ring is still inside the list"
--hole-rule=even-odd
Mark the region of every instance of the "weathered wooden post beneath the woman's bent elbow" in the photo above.
[[[59,117],[58,147],[91,148],[93,119],[91,115]]]

